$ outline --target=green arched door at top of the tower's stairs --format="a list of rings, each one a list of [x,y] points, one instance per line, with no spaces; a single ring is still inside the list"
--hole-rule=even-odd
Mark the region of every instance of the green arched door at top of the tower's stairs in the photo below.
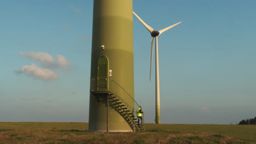
[[[107,90],[108,90],[108,59],[103,56],[98,59],[97,91],[107,91]]]

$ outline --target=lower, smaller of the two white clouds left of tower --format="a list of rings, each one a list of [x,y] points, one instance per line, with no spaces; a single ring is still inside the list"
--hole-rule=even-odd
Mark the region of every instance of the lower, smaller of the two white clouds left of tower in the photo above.
[[[37,65],[24,65],[21,67],[21,71],[29,76],[36,77],[43,80],[54,80],[58,78],[58,74],[54,73],[50,69],[42,69]]]

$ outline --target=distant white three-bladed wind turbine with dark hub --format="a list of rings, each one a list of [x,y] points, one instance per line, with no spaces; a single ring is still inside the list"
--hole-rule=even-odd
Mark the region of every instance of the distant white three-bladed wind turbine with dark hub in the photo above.
[[[155,123],[161,123],[160,117],[160,92],[159,92],[159,65],[158,65],[158,36],[168,29],[178,25],[181,22],[175,23],[170,27],[166,27],[161,29],[160,31],[155,31],[152,27],[148,26],[134,11],[133,14],[138,18],[139,21],[148,29],[150,32],[152,39],[151,39],[151,59],[150,59],[150,76],[149,80],[151,80],[151,70],[152,70],[152,59],[153,59],[153,45],[154,45],[154,38],[155,38]]]

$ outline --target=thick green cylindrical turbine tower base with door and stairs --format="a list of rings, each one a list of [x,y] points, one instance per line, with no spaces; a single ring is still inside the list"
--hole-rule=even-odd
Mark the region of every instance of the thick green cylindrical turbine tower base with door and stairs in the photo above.
[[[89,131],[136,131],[132,0],[94,0]]]

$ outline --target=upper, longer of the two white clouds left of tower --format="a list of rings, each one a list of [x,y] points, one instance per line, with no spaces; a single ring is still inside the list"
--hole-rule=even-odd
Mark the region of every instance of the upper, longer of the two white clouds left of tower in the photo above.
[[[71,63],[62,55],[57,55],[56,59],[53,58],[49,53],[46,52],[20,52],[22,56],[27,58],[35,59],[42,63],[44,67],[59,67],[64,70],[68,69]]]

